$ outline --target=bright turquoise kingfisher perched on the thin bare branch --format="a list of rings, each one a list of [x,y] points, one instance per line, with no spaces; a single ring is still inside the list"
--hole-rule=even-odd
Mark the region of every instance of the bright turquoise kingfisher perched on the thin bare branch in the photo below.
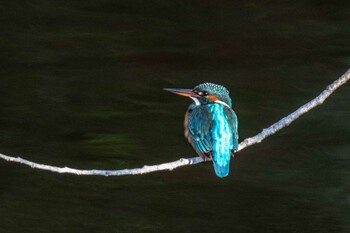
[[[229,91],[214,83],[202,83],[193,89],[164,90],[194,101],[185,114],[185,137],[202,159],[213,161],[218,177],[226,177],[230,158],[238,150],[238,119]]]

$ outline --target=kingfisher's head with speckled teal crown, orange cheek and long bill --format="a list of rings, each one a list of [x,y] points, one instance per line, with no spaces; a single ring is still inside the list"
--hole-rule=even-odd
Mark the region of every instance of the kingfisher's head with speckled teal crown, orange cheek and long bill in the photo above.
[[[218,103],[231,108],[231,98],[229,91],[221,85],[214,83],[202,83],[193,89],[164,88],[174,94],[190,97],[196,105]]]

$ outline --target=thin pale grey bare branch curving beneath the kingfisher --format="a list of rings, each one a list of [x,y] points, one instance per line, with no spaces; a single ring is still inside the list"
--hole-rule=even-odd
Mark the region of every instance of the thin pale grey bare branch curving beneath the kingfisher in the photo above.
[[[261,133],[255,135],[254,137],[245,139],[243,142],[239,144],[238,151],[241,151],[256,143],[260,143],[266,137],[276,133],[277,131],[281,130],[284,127],[287,127],[303,114],[307,113],[314,107],[322,104],[337,88],[345,84],[349,79],[350,79],[350,69],[347,70],[346,73],[343,74],[339,79],[334,81],[332,84],[328,85],[327,88],[324,91],[322,91],[321,94],[319,94],[316,98],[304,104],[303,106],[298,108],[296,111],[282,118],[281,120],[271,125],[270,127],[263,129]],[[4,154],[0,154],[0,158],[9,162],[21,163],[21,164],[30,166],[32,168],[47,170],[51,172],[71,173],[76,175],[102,175],[102,176],[139,175],[139,174],[145,174],[145,173],[150,173],[155,171],[173,170],[181,166],[193,165],[193,164],[208,161],[208,160],[202,160],[200,157],[193,157],[193,158],[181,158],[173,162],[162,163],[158,165],[152,165],[152,166],[145,165],[142,168],[122,169],[122,170],[95,170],[95,169],[79,170],[79,169],[74,169],[69,167],[55,167],[50,165],[34,163],[29,160],[22,159],[20,157],[15,158]]]

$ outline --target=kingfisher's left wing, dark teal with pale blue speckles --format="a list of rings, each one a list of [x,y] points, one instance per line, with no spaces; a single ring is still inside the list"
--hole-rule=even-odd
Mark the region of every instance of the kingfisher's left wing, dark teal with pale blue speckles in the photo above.
[[[200,156],[211,151],[212,119],[205,106],[190,106],[185,117],[185,136]]]

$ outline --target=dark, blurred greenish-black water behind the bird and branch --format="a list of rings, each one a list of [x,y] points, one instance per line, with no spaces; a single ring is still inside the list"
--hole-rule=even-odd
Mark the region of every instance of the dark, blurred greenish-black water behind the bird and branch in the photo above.
[[[82,169],[193,157],[190,100],[231,91],[240,138],[350,67],[348,1],[2,1],[0,153]],[[0,232],[349,232],[350,85],[240,152],[143,176],[0,161]]]

